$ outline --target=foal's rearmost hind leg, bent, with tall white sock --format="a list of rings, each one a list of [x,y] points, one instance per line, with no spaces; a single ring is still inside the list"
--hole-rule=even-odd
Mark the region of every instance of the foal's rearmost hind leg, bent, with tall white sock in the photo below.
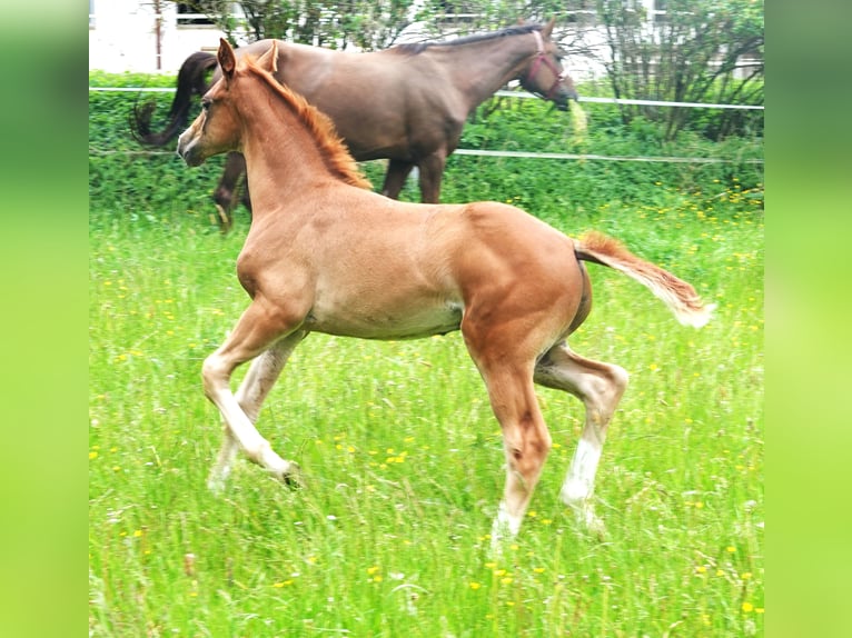
[[[585,359],[563,342],[538,361],[534,378],[542,386],[571,392],[586,408],[583,433],[559,496],[591,530],[600,534],[603,522],[595,516],[590,497],[610,419],[627,387],[627,372],[620,366]]]

